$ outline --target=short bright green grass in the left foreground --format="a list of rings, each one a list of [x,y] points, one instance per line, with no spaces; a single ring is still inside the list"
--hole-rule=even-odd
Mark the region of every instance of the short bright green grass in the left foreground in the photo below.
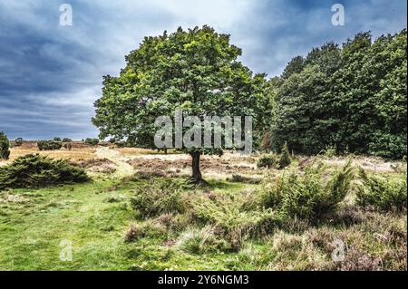
[[[229,190],[243,187],[211,184]],[[126,198],[140,184],[127,182],[110,191],[112,185],[112,180],[99,179],[84,185],[1,192],[0,196],[18,195],[24,200],[0,202],[0,270],[228,269],[228,256],[175,254],[155,239],[126,244],[123,235],[134,219]],[[120,201],[109,202],[110,198]],[[73,243],[72,262],[60,260],[63,239]],[[217,265],[217,259],[224,265]]]

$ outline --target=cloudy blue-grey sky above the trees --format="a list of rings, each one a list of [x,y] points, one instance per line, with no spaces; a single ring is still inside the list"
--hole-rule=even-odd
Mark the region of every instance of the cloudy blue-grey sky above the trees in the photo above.
[[[73,25],[59,24],[60,5]],[[331,7],[345,6],[345,26]],[[405,0],[0,0],[0,130],[10,139],[95,137],[92,102],[143,36],[209,24],[231,34],[254,72],[280,74],[294,56],[361,31],[406,28]]]

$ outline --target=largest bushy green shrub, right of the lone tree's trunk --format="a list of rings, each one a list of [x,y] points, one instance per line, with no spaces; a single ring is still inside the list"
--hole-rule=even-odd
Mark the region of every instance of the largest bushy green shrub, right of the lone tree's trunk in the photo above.
[[[262,204],[277,209],[285,217],[303,217],[316,220],[335,211],[342,202],[354,178],[351,162],[326,177],[321,163],[312,163],[303,175],[284,173],[268,179],[261,190]]]

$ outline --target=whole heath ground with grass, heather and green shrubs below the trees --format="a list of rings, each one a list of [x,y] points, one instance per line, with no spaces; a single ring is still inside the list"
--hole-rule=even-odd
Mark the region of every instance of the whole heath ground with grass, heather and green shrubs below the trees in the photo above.
[[[24,143],[11,155],[22,149],[48,153]],[[203,159],[198,186],[189,156],[92,149],[53,156],[76,153],[84,182],[2,188],[1,269],[406,270],[405,162],[328,152],[257,168],[263,156],[227,152]]]

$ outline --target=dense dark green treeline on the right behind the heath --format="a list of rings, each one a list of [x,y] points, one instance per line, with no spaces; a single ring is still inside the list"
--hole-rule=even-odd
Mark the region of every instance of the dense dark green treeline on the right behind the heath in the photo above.
[[[399,34],[355,35],[292,59],[274,91],[267,145],[296,153],[328,147],[391,159],[407,150],[407,39]],[[264,146],[265,138],[264,138]]]

